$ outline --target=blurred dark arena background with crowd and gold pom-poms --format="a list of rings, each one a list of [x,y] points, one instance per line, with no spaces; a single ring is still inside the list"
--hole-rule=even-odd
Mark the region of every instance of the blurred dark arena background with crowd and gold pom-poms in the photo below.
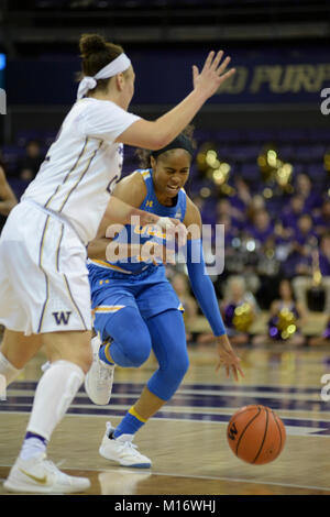
[[[189,91],[191,64],[224,47],[237,78],[195,121],[186,190],[207,226],[210,266],[216,227],[224,229],[224,268],[211,279],[228,332],[239,345],[330,344],[330,127],[320,110],[329,9],[322,0],[4,2],[0,224],[75,100],[81,32],[124,46],[138,77],[131,111],[152,119]],[[125,147],[123,175],[135,168]],[[168,277],[190,345],[212,342],[185,267]]]

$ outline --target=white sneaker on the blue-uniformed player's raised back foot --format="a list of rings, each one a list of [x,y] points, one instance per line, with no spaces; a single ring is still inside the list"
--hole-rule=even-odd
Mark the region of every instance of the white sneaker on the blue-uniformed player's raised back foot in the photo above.
[[[92,338],[92,363],[85,375],[85,389],[94,404],[106,406],[111,397],[114,364],[112,366],[100,360],[99,350],[101,344],[99,336]]]

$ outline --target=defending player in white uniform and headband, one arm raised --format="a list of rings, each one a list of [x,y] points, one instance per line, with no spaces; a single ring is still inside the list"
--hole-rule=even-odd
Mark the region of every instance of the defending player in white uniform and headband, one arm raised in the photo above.
[[[0,375],[9,385],[42,344],[51,362],[35,392],[20,455],[4,483],[12,492],[89,487],[89,480],[68,476],[46,460],[52,432],[91,364],[86,245],[105,213],[121,223],[140,215],[142,224],[173,224],[116,198],[108,205],[121,174],[122,144],[151,150],[167,145],[234,72],[226,72],[229,58],[221,63],[222,52],[210,53],[201,73],[194,67],[191,94],[151,122],[127,111],[135,77],[122,48],[98,35],[82,35],[80,51],[85,77],[78,101],[0,240],[0,323],[6,327]]]

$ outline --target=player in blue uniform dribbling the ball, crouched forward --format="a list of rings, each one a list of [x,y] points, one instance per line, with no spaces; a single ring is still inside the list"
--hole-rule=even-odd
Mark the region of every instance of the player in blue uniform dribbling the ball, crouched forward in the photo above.
[[[215,288],[205,271],[200,213],[184,190],[193,153],[190,138],[182,133],[166,147],[150,153],[150,166],[122,179],[113,196],[142,210],[179,219],[187,227],[188,275],[216,337],[217,370],[224,365],[227,374],[232,372],[238,380],[239,373],[243,375],[240,359],[228,340]],[[162,258],[166,235],[162,230],[139,224],[125,227],[111,245],[128,239],[127,257],[107,260],[110,241],[106,231],[110,223],[110,220],[102,221],[97,239],[88,249],[94,328],[98,336],[92,340],[94,363],[85,387],[92,402],[108,404],[114,365],[139,367],[151,350],[154,351],[158,370],[119,426],[114,429],[108,422],[99,449],[103,458],[121,465],[148,468],[151,460],[138,451],[132,440],[147,419],[172,398],[187,372],[189,360],[183,308],[165,276]],[[193,227],[194,231],[189,232]],[[166,245],[168,250],[170,242]],[[145,253],[146,250],[150,253]]]

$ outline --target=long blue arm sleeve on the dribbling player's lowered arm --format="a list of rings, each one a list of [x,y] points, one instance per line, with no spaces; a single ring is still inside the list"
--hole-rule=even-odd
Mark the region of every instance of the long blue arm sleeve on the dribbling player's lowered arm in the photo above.
[[[215,336],[226,334],[215,287],[206,271],[200,239],[187,241],[187,268],[194,294]]]

